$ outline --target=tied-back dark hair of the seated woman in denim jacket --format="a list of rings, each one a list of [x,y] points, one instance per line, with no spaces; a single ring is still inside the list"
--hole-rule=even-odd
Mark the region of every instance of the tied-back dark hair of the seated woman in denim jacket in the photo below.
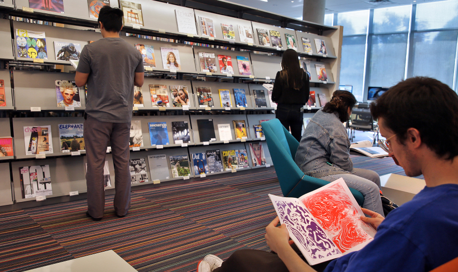
[[[350,93],[348,90],[336,90],[332,94],[331,101],[326,103],[323,107],[324,112],[339,114],[339,119],[342,123],[350,120],[348,115],[348,108],[353,109],[353,107],[358,103],[355,96]]]

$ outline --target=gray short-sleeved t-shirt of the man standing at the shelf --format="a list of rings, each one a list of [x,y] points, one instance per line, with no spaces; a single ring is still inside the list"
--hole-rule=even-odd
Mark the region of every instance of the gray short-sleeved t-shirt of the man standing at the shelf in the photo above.
[[[104,38],[85,45],[76,71],[89,74],[85,112],[101,122],[130,123],[135,73],[143,59],[122,38]]]

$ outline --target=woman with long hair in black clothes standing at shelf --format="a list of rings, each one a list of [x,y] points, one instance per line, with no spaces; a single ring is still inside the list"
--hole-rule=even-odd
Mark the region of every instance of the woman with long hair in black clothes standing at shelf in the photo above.
[[[302,107],[310,95],[310,78],[299,64],[297,52],[284,51],[281,59],[282,70],[277,72],[272,89],[272,101],[277,103],[275,117],[280,120],[296,140],[301,140],[303,113]]]

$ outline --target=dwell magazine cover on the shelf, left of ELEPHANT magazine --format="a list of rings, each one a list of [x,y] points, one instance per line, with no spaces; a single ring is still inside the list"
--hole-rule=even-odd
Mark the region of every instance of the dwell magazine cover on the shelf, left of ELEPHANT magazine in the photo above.
[[[24,127],[25,155],[52,154],[51,126]]]

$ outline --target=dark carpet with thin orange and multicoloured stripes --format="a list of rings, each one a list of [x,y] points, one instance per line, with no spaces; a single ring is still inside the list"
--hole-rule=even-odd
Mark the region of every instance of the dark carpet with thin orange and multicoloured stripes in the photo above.
[[[391,159],[352,156],[354,167],[404,174]],[[138,271],[195,271],[206,254],[268,250],[265,226],[275,217],[267,194],[281,195],[273,168],[132,192],[129,215],[106,197],[102,221],[86,201],[0,214],[0,271],[24,271],[113,250]]]

